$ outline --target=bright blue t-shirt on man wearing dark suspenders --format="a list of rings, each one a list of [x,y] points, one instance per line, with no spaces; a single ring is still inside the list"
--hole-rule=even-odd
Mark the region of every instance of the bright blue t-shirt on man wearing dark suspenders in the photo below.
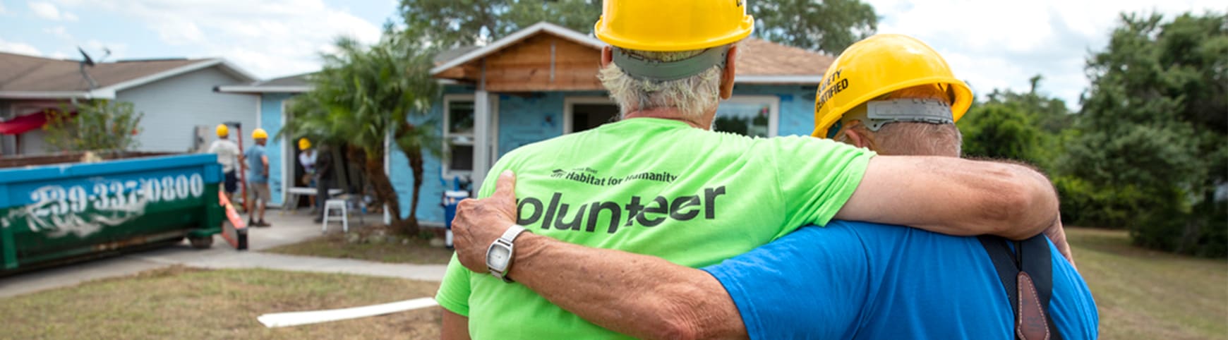
[[[1050,243],[1051,318],[1095,339],[1092,292]],[[975,237],[834,221],[705,268],[750,339],[1014,339],[1006,290]]]

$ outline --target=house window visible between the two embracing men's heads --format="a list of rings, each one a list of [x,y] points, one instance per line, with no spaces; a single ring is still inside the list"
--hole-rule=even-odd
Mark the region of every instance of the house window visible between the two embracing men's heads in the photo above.
[[[771,137],[776,136],[777,119],[780,119],[780,97],[736,96],[717,107],[712,130]]]

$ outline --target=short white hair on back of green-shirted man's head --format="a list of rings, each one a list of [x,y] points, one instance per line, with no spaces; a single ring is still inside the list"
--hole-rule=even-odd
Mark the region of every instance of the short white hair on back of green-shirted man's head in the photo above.
[[[648,60],[674,61],[695,56],[704,50],[625,52]],[[618,103],[623,114],[634,110],[674,108],[685,118],[699,118],[716,108],[721,101],[721,65],[679,80],[651,81],[634,79],[618,65],[610,63],[597,72],[597,79],[602,81],[605,90],[609,90],[610,98]]]

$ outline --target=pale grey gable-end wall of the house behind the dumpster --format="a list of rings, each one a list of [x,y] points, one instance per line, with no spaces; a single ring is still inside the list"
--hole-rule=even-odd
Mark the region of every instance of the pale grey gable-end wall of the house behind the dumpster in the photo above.
[[[241,122],[247,146],[257,126],[258,97],[214,92],[214,86],[241,83],[247,82],[208,68],[119,91],[115,99],[131,102],[145,113],[138,150],[185,152],[193,146],[195,126],[209,126],[208,144],[215,137],[212,126],[222,122]]]

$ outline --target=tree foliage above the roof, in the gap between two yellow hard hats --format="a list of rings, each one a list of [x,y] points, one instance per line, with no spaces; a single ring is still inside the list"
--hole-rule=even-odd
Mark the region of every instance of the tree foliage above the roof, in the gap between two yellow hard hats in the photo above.
[[[874,34],[878,15],[860,0],[748,1],[755,37],[831,55]]]

